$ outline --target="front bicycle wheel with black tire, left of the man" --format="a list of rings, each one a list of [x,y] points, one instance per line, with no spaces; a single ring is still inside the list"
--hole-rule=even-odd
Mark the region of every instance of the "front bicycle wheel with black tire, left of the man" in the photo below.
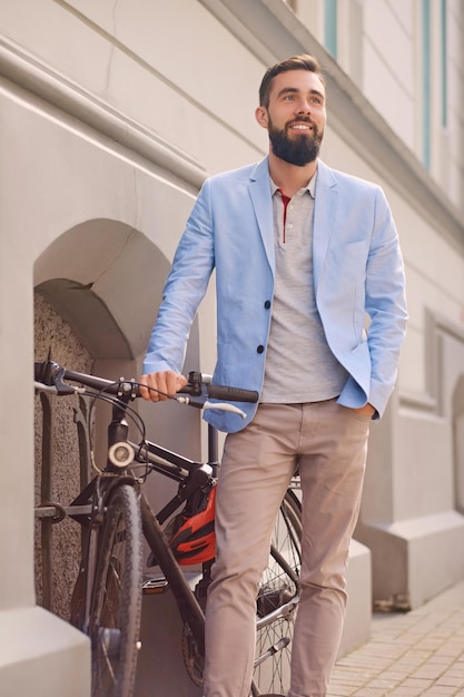
[[[99,536],[90,605],[92,697],[131,697],[139,648],[142,536],[138,494],[117,485]]]

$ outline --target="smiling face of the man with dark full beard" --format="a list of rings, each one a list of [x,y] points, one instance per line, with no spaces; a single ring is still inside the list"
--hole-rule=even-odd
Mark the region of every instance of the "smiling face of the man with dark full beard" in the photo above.
[[[280,72],[273,80],[269,106],[259,107],[257,118],[269,132],[274,155],[303,167],[319,154],[326,124],[324,85],[309,70]]]

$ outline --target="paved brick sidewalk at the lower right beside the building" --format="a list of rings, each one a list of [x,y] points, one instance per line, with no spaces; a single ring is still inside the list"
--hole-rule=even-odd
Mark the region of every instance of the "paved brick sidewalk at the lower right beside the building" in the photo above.
[[[374,615],[367,644],[339,659],[327,697],[464,696],[464,581],[416,610]]]

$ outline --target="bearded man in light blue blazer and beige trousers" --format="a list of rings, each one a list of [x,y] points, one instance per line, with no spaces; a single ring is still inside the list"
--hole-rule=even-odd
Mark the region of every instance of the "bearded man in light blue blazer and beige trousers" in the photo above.
[[[207,697],[249,695],[257,583],[276,512],[298,469],[303,593],[288,695],[322,697],[343,629],[369,423],[382,416],[394,387],[405,332],[403,263],[379,187],[318,158],[325,81],[313,57],[267,70],[256,119],[268,130],[269,155],[203,186],[140,382],[152,401],[185,384],[190,324],[216,268],[214,380],[257,390],[260,401],[240,404],[245,421],[227,412],[206,416],[228,435],[205,690]]]

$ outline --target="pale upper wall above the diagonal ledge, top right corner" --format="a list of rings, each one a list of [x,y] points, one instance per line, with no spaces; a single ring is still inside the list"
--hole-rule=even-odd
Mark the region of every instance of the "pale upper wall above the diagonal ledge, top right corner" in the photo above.
[[[298,19],[324,45],[327,7],[334,3],[294,4]],[[337,63],[422,163],[428,122],[427,169],[462,213],[462,2],[338,0],[336,14]]]

